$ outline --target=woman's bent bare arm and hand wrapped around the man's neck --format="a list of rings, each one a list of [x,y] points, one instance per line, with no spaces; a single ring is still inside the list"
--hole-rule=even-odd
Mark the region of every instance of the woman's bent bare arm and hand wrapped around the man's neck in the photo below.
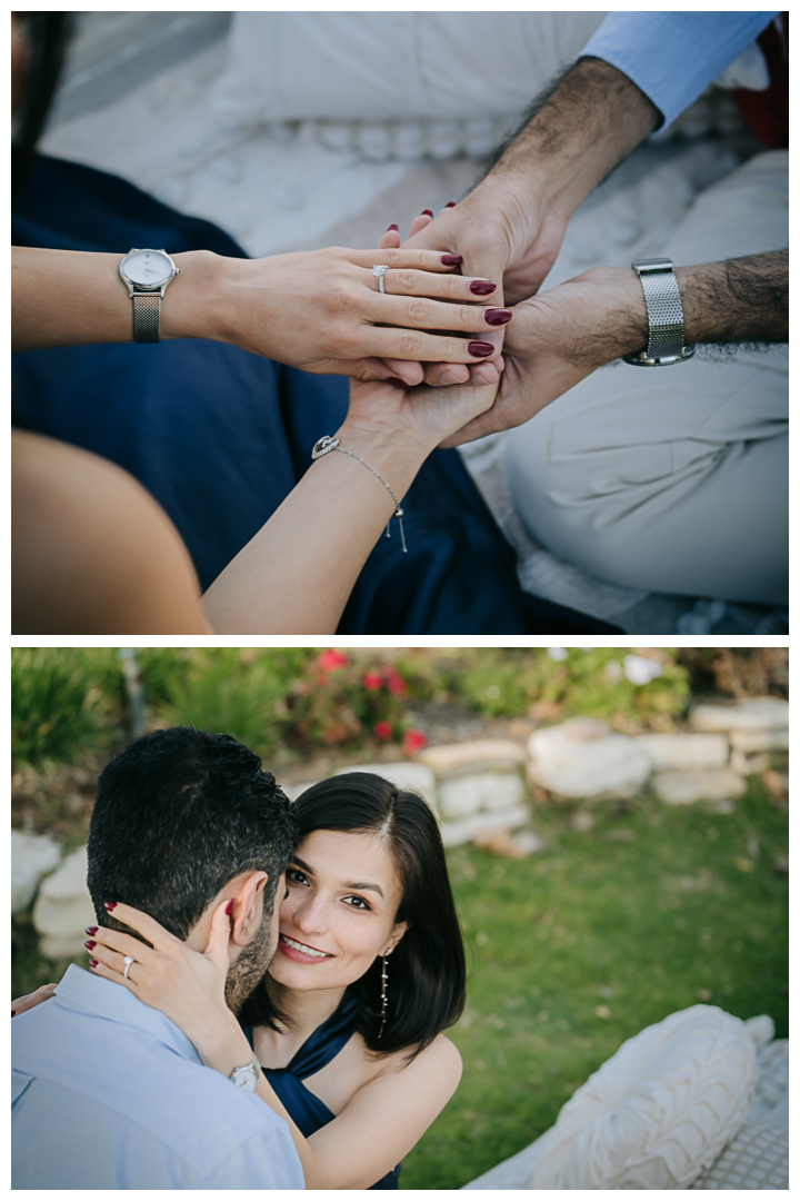
[[[230,934],[225,908],[224,901],[217,906],[203,955],[125,904],[115,907],[114,916],[152,945],[106,927],[86,945],[97,975],[124,985],[166,1014],[206,1066],[230,1076],[234,1068],[249,1063],[252,1051],[224,1004]],[[136,960],[128,979],[122,974],[126,955]],[[462,1070],[461,1056],[449,1039],[439,1036],[405,1068],[397,1059],[392,1057],[338,1117],[309,1139],[302,1136],[266,1078],[259,1077],[259,1097],[289,1123],[307,1189],[369,1188],[408,1154],[447,1104]]]

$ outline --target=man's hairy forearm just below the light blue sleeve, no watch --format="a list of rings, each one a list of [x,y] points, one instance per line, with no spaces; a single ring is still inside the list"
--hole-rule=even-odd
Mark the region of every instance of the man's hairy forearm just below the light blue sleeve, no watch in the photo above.
[[[498,149],[494,183],[535,175],[572,211],[661,120],[631,79],[602,59],[581,59],[558,76]]]

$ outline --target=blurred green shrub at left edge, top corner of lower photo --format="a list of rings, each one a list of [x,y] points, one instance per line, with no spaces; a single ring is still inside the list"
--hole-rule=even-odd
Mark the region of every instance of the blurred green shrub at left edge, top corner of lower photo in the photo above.
[[[96,749],[108,735],[85,652],[11,652],[11,753],[17,764],[59,763]]]

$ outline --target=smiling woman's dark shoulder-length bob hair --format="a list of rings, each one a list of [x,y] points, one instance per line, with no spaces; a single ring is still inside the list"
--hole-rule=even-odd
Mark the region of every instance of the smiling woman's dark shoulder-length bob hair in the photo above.
[[[378,1054],[413,1048],[409,1062],[464,1008],[465,966],[456,903],[437,819],[416,793],[381,776],[354,771],[302,793],[291,806],[300,842],[314,830],[341,830],[385,838],[397,865],[403,898],[396,921],[409,928],[389,961],[389,1010],[380,1030],[381,960],[373,961],[348,991],[363,1004],[356,1029]],[[245,1002],[245,1024],[281,1029],[285,1022],[269,993],[269,975]]]

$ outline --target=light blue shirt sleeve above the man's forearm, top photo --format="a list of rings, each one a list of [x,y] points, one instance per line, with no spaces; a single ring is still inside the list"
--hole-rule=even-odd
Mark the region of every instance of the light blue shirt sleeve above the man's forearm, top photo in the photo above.
[[[666,129],[738,59],[776,12],[609,12],[579,58],[610,62],[663,113]]]

